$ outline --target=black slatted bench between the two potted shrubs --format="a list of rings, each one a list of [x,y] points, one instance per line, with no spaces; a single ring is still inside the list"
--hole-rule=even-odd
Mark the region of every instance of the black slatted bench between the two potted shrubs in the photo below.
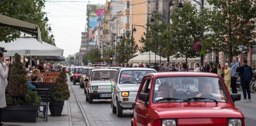
[[[42,103],[40,106],[43,106],[43,114],[45,121],[48,121],[48,106],[52,101],[52,95],[55,83],[39,83],[39,82],[31,82],[34,86],[36,86],[36,91],[38,96],[41,97]]]

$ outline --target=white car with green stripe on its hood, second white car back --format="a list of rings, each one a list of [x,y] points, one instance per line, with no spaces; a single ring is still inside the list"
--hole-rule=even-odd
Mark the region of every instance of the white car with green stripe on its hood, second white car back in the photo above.
[[[115,69],[92,69],[86,87],[86,101],[93,99],[111,99],[114,80],[117,70]]]

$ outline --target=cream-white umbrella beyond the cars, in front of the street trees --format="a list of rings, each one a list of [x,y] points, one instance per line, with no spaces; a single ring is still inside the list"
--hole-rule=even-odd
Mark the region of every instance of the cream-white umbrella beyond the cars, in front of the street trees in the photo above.
[[[166,62],[167,58],[161,57],[161,62]],[[160,63],[160,56],[150,51],[150,63]],[[128,61],[128,63],[149,63],[149,52],[144,52]]]

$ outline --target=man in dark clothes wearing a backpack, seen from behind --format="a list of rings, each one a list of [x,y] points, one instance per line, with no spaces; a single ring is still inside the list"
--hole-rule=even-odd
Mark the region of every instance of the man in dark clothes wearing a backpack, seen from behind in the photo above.
[[[245,68],[247,67],[250,67],[247,65],[247,60],[243,60],[243,65]],[[240,72],[240,84],[242,86],[242,89],[243,89],[243,94],[244,94],[244,99],[241,100],[241,101],[247,101],[247,98],[246,98],[246,91],[247,91],[247,94],[248,94],[248,100],[251,101],[251,93],[250,93],[250,81],[245,81],[244,78],[243,78],[243,75],[244,75],[244,67],[237,67],[236,68],[236,72]],[[250,71],[251,71],[251,76],[252,76],[252,69],[250,67]]]

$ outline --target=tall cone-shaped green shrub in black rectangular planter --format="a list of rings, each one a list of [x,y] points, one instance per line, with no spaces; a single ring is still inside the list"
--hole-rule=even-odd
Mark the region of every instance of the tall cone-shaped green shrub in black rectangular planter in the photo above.
[[[5,95],[7,107],[3,108],[2,121],[36,122],[41,97],[37,96],[36,91],[28,89],[24,73],[20,55],[16,53],[10,68],[8,94]]]

